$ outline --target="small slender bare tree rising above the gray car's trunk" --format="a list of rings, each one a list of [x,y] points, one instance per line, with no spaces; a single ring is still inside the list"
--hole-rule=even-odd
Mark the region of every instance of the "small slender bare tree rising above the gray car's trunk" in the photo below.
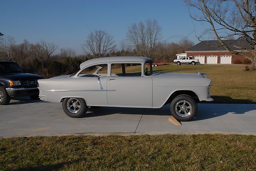
[[[38,54],[38,58],[43,60],[46,63],[46,69],[47,69],[47,77],[49,77],[49,62],[50,62],[50,57],[52,54],[56,51],[58,46],[54,45],[52,42],[46,42],[46,41],[41,41],[40,42],[40,47],[43,52],[43,54]]]

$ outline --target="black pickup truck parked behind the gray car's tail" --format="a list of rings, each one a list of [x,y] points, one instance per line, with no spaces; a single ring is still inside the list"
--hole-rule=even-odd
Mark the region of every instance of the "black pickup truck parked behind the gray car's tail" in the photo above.
[[[25,73],[15,62],[0,61],[0,104],[8,104],[17,96],[38,99],[38,79],[43,77]]]

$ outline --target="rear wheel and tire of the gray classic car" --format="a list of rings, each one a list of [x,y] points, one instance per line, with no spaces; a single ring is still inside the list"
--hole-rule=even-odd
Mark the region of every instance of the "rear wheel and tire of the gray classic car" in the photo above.
[[[62,102],[62,108],[72,118],[80,118],[87,112],[86,101],[82,98],[66,98]]]

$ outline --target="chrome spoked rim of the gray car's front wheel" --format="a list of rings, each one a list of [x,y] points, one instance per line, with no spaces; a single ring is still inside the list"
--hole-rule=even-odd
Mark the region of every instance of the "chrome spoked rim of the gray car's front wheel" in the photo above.
[[[192,105],[187,100],[178,101],[175,105],[176,114],[182,118],[191,115],[192,111]]]

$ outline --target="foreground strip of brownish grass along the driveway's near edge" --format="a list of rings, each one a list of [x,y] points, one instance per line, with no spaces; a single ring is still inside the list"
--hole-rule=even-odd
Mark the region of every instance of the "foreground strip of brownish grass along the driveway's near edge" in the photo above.
[[[244,135],[0,139],[0,170],[255,170]]]

